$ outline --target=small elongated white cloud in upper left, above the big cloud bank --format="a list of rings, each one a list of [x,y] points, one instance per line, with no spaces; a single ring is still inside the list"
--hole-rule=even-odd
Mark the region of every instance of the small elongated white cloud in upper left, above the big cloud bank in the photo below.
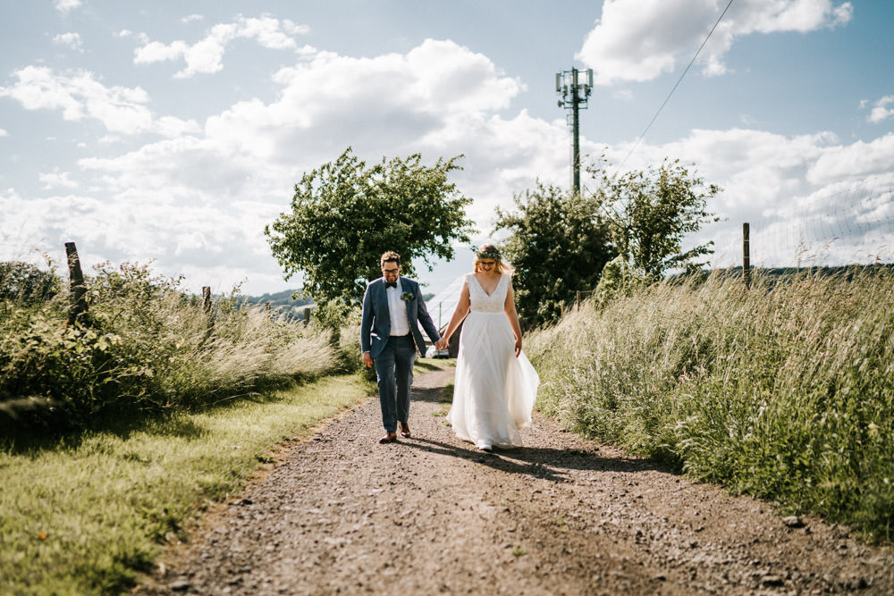
[[[308,30],[292,21],[280,21],[273,17],[247,19],[240,16],[232,23],[215,25],[205,38],[192,45],[185,41],[173,41],[170,44],[147,41],[144,46],[134,50],[133,62],[150,64],[182,59],[186,62],[186,68],[174,76],[186,79],[198,73],[221,71],[226,46],[235,39],[255,39],[260,46],[270,49],[298,50],[298,45],[291,36]]]

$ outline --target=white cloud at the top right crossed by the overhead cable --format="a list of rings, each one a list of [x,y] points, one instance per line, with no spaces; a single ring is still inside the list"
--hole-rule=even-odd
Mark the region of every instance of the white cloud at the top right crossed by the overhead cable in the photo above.
[[[576,55],[595,82],[652,80],[673,71],[701,46],[725,0],[605,0]],[[833,0],[739,0],[730,6],[699,60],[705,75],[726,72],[723,57],[735,38],[753,33],[807,32],[850,21],[853,6]]]

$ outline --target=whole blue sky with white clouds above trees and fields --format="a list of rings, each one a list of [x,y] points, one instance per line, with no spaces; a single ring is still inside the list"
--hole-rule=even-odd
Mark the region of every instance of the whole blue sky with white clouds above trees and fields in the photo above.
[[[491,238],[496,207],[569,185],[554,76],[593,68],[586,154],[695,164],[724,190],[736,264],[891,261],[894,3],[734,0],[152,2],[0,0],[0,260],[154,261],[198,290],[283,281],[263,236],[305,172],[466,155],[456,181]],[[586,180],[585,180],[586,183]],[[468,270],[421,268],[440,290]]]

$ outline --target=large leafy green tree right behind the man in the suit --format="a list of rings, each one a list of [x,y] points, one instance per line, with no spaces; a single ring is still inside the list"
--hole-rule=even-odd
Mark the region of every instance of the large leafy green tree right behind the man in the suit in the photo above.
[[[468,243],[471,199],[448,180],[462,155],[422,164],[419,154],[382,159],[367,167],[348,147],[334,162],[305,172],[295,185],[291,211],[264,229],[285,279],[301,273],[303,292],[314,298],[317,317],[337,322],[359,304],[367,281],[381,275],[379,256],[401,255],[402,273],[412,260],[450,260],[454,241]]]

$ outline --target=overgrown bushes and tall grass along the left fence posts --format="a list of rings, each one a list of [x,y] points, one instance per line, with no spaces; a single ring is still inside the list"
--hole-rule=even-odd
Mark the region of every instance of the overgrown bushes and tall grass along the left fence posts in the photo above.
[[[0,426],[89,428],[107,416],[194,409],[339,365],[330,333],[224,296],[207,312],[180,280],[109,264],[67,324],[67,295],[0,297]]]

